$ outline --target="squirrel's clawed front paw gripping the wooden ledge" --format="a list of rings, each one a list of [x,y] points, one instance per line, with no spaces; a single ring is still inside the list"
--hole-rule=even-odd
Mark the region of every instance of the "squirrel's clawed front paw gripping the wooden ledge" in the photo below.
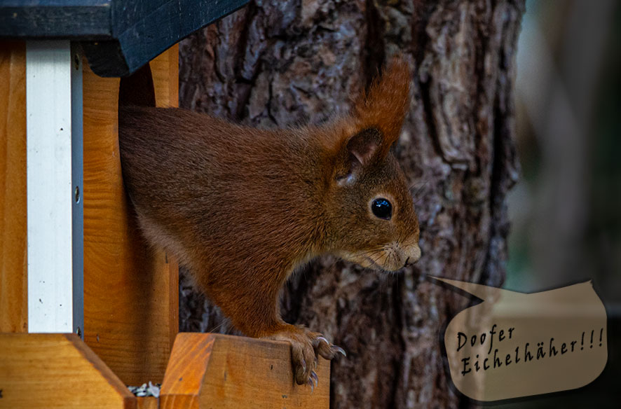
[[[309,331],[303,326],[287,325],[266,338],[289,341],[296,383],[309,384],[311,389],[314,389],[319,382],[315,373],[318,356],[323,356],[325,359],[332,359],[336,354],[347,356],[343,348],[332,345],[320,333]]]

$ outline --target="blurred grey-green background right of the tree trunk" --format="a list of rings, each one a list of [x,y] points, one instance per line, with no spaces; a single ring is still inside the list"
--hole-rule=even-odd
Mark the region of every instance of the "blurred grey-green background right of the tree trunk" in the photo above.
[[[593,279],[608,365],[581,389],[506,408],[617,408],[621,399],[621,1],[530,0],[517,55],[521,181],[510,192],[505,288]]]

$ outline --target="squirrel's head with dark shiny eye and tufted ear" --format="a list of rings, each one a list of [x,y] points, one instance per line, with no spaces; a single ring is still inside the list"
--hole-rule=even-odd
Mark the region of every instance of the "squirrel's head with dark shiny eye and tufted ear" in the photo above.
[[[409,107],[410,72],[395,58],[324,140],[329,251],[366,268],[400,270],[421,257],[418,219],[390,147]]]

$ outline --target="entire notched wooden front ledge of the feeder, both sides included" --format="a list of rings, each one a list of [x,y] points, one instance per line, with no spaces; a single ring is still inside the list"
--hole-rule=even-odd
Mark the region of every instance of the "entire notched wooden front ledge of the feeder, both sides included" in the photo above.
[[[329,362],[311,393],[294,384],[289,348],[180,333],[156,401],[135,398],[76,335],[1,333],[0,408],[328,408]]]

